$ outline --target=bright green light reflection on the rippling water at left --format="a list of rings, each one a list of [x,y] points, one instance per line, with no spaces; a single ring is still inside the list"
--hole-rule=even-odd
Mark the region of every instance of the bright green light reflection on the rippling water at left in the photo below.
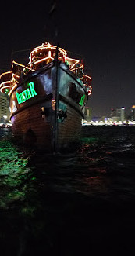
[[[31,177],[27,167],[28,157],[23,157],[12,141],[0,141],[0,207],[8,208],[18,200],[25,199],[26,181]]]

